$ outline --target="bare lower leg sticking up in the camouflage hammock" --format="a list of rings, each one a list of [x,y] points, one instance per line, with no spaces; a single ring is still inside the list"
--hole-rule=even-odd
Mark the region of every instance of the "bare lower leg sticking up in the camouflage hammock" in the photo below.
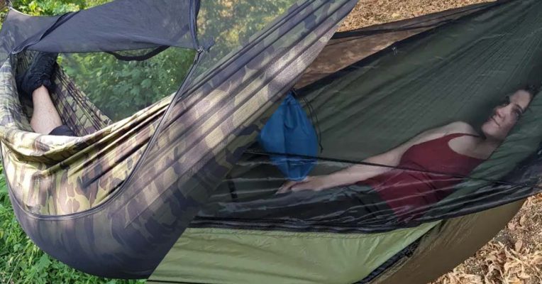
[[[52,104],[47,88],[41,86],[32,92],[34,112],[30,125],[37,133],[49,134],[52,129],[62,125],[62,120],[55,105]]]

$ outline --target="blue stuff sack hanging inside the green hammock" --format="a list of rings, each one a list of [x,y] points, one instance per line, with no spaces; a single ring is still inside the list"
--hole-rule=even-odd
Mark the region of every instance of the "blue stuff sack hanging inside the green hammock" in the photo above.
[[[258,141],[267,153],[288,154],[271,155],[271,161],[289,180],[303,180],[314,168],[316,159],[292,156],[318,155],[318,138],[314,126],[292,92],[287,94],[267,121]]]

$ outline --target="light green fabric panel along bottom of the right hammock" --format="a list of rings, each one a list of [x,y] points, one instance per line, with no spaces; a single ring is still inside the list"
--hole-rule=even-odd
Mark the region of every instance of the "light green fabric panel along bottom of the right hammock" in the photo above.
[[[148,283],[355,283],[438,223],[383,234],[191,228]]]

